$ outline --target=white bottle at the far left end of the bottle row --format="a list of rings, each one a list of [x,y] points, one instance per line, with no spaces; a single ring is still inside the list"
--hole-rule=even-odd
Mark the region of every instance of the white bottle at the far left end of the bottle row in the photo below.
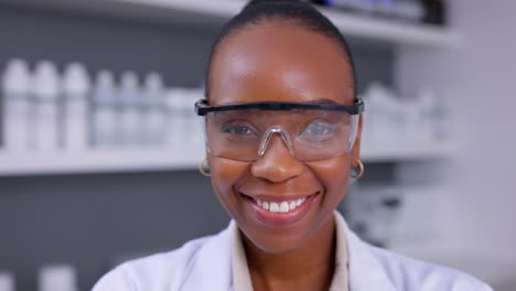
[[[26,62],[11,60],[2,78],[3,147],[8,151],[24,152],[29,149],[31,101],[29,95],[30,72]]]

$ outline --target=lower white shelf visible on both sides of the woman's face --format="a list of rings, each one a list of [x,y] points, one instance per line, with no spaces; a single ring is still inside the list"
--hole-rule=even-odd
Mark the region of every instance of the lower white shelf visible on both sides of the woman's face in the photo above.
[[[454,144],[365,144],[364,162],[404,162],[451,157]],[[97,149],[68,152],[0,151],[0,176],[196,170],[203,148]]]

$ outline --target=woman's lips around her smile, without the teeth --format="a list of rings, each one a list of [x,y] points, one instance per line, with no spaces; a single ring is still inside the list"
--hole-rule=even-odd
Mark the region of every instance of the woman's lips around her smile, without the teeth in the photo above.
[[[319,197],[319,194],[320,192],[316,192],[312,195],[309,195],[308,197],[304,196],[307,197],[307,201],[304,201],[303,204],[287,213],[272,213],[266,211],[259,206],[252,197],[245,194],[240,194],[240,196],[243,197],[244,202],[249,205],[252,214],[262,223],[268,225],[289,225],[301,220],[304,215],[307,215],[313,201]],[[286,201],[284,197],[282,201]]]

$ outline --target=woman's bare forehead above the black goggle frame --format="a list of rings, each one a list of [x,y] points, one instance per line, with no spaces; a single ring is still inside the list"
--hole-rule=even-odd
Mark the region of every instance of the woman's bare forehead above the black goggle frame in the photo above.
[[[299,24],[245,28],[214,56],[212,105],[318,99],[353,103],[352,69],[334,41]]]

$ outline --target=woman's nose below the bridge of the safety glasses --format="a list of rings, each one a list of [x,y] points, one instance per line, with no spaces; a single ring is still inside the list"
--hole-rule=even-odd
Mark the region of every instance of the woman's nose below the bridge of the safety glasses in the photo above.
[[[301,175],[304,165],[292,153],[281,138],[281,134],[271,137],[268,148],[260,159],[252,162],[254,176],[279,183]]]

